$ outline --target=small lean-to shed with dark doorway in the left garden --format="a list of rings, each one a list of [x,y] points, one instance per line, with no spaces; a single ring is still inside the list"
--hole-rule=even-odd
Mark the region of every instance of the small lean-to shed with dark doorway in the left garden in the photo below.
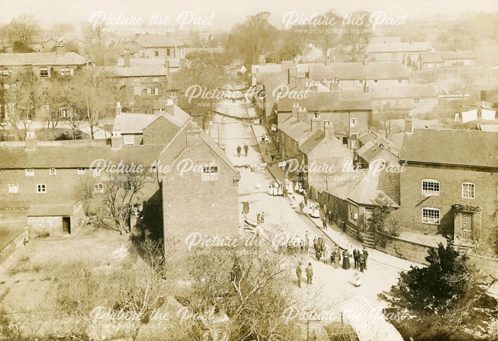
[[[83,204],[32,205],[27,214],[29,236],[71,234],[83,218]]]

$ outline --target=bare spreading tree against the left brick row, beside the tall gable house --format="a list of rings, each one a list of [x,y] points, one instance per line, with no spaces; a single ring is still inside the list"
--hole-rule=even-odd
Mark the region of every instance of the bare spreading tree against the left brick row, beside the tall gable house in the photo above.
[[[139,163],[125,161],[122,169],[108,171],[107,176],[104,202],[120,234],[123,234],[131,215],[133,200],[146,182],[145,170]],[[129,228],[131,234],[132,228]]]

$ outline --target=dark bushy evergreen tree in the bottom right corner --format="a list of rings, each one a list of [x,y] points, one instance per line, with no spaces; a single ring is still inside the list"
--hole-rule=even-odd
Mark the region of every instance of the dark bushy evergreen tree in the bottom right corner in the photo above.
[[[417,335],[417,340],[456,341],[464,339],[464,327],[471,333],[486,330],[496,317],[497,300],[488,296],[489,284],[468,257],[449,242],[431,248],[425,260],[426,267],[411,266],[400,273],[397,284],[378,295],[412,317],[393,321],[401,334]]]

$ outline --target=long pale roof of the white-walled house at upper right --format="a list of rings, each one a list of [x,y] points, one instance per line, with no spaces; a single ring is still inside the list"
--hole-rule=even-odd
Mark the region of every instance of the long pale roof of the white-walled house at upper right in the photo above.
[[[406,65],[399,62],[362,63],[322,63],[309,64],[309,76],[312,80],[360,80],[360,79],[400,79],[408,78]]]

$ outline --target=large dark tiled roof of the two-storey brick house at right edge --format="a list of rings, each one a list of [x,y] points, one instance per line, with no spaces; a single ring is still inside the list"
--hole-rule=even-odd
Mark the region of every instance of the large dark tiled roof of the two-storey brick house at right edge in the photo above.
[[[413,129],[405,134],[401,161],[498,167],[498,133],[480,130]]]

